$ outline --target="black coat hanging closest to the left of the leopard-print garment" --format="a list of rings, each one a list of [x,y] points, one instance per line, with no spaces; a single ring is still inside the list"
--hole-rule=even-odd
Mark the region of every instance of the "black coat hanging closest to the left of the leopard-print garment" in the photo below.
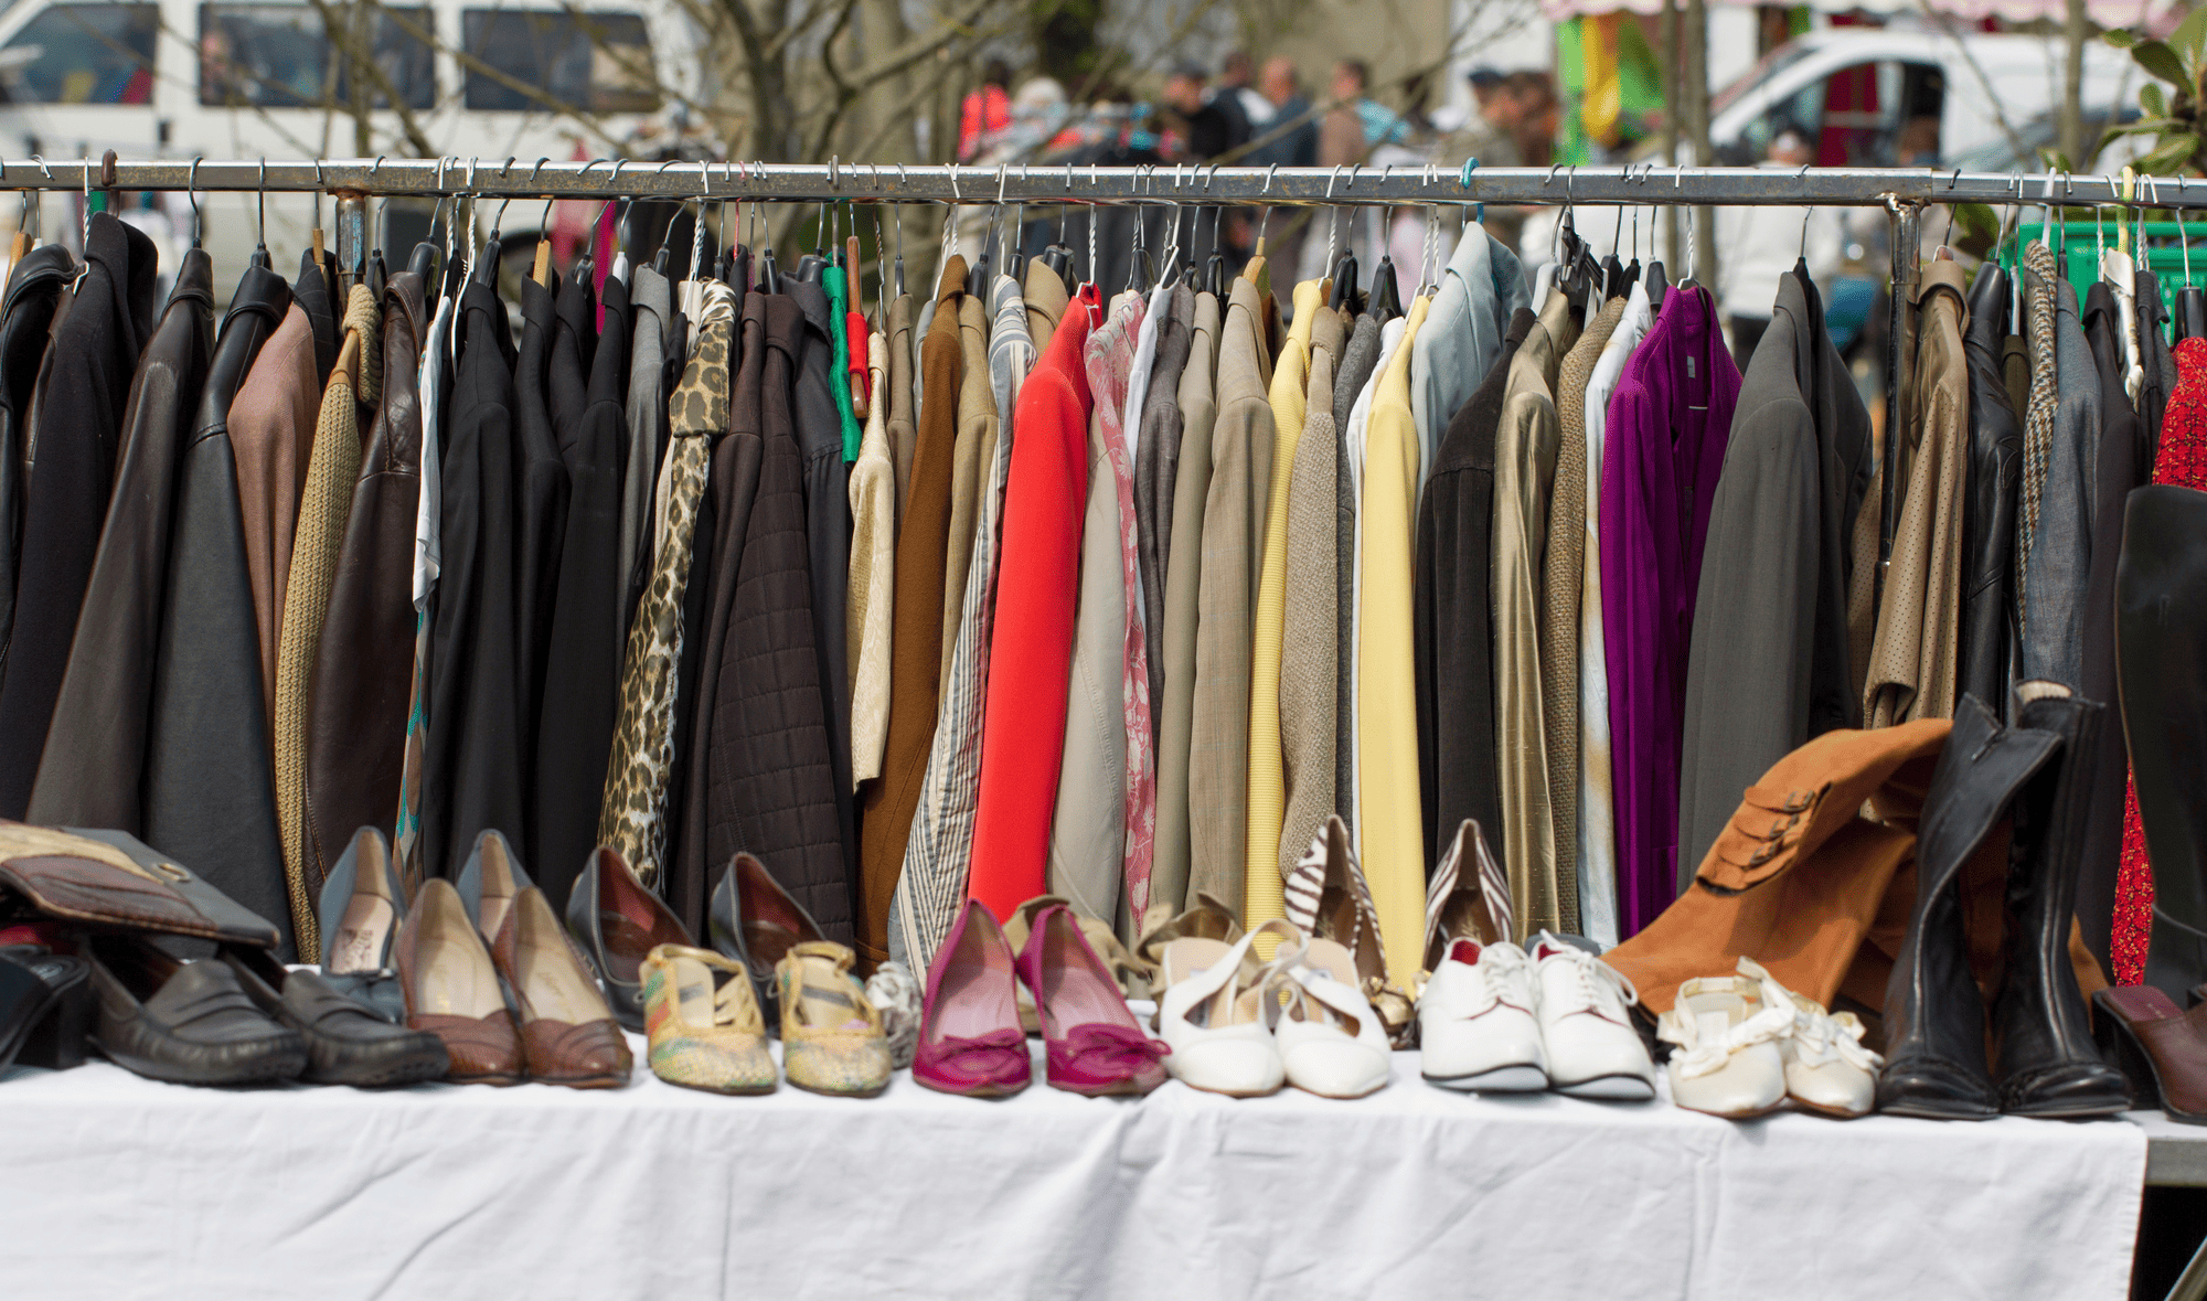
[[[611,311],[614,293],[607,293],[605,333],[589,329],[596,307],[587,276],[589,262],[561,282],[552,340],[552,423],[567,463],[569,496],[543,708],[536,714],[532,867],[554,908],[565,908],[569,884],[598,845],[627,631],[620,624],[620,452],[627,439],[629,322],[625,311]],[[618,291],[618,280],[609,280],[607,289]]]

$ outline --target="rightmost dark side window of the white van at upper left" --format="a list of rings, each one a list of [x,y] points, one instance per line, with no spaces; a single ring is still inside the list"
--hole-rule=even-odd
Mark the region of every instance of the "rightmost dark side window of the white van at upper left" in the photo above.
[[[651,37],[640,13],[468,9],[468,108],[651,112]]]

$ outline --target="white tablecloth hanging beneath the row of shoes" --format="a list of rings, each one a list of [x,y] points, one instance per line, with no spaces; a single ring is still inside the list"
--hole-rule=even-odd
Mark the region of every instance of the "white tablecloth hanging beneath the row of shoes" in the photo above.
[[[0,1292],[148,1299],[2125,1294],[2121,1120],[1355,1103],[190,1089],[0,1076]]]

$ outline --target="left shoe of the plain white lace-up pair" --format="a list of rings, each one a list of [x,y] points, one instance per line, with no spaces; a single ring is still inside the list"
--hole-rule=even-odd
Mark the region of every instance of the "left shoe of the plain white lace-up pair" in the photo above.
[[[1516,944],[1457,939],[1417,1001],[1426,1083],[1529,1094],[1547,1087],[1532,959]]]

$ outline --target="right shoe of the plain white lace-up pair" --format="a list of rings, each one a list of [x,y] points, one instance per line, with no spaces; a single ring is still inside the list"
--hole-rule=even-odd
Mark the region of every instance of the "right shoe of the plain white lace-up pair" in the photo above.
[[[1640,994],[1624,972],[1547,931],[1532,961],[1549,1085],[1574,1098],[1653,1098],[1655,1063],[1627,1012]]]

